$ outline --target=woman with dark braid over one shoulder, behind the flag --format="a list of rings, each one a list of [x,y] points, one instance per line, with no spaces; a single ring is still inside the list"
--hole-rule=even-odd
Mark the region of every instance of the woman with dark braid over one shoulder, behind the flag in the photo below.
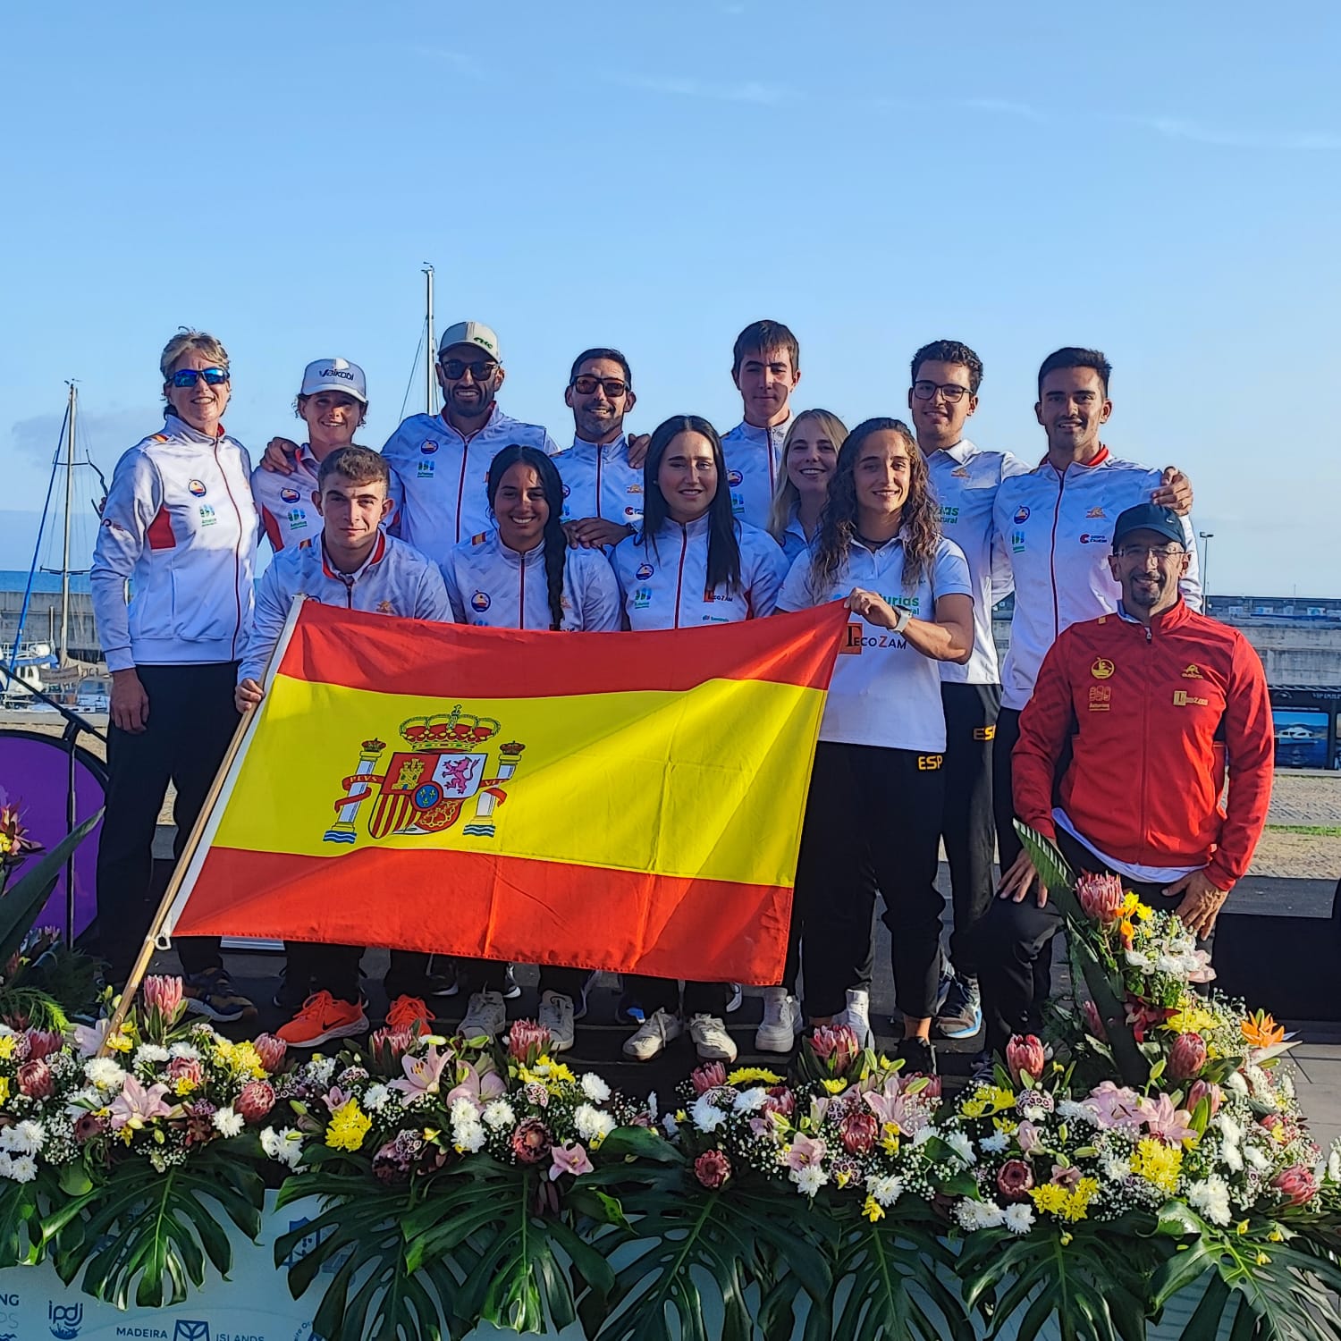
[[[534,447],[504,447],[487,483],[495,528],[456,546],[443,565],[457,624],[495,629],[609,633],[620,628],[620,589],[599,548],[569,548],[563,534],[563,481],[554,461]],[[479,984],[461,1033],[496,1038],[507,1022],[507,964],[457,960],[457,974]],[[573,1046],[586,1014],[583,968],[540,968],[539,1023],[555,1051]]]

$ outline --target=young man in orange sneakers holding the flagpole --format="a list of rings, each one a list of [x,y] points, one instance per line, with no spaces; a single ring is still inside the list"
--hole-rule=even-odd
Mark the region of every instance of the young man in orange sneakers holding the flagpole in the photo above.
[[[294,597],[303,595],[345,610],[394,614],[406,620],[452,618],[439,570],[417,550],[382,531],[390,515],[390,468],[366,447],[342,447],[318,468],[311,503],[323,526],[315,544],[286,546],[256,589],[256,614],[237,670],[239,712],[264,697],[261,679],[284,629]],[[307,988],[295,1016],[276,1030],[292,1047],[318,1047],[367,1029],[359,1004],[358,945],[296,941],[288,945],[287,980]],[[433,1018],[424,1004],[428,956],[392,951],[388,996],[392,1027],[425,1027]],[[397,986],[418,991],[397,991]]]

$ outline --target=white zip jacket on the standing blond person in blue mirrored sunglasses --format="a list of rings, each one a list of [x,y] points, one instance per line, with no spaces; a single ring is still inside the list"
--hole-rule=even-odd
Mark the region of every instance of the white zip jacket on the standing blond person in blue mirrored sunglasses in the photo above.
[[[109,670],[241,657],[259,534],[249,477],[223,425],[207,437],[174,414],[117,463],[90,574]]]

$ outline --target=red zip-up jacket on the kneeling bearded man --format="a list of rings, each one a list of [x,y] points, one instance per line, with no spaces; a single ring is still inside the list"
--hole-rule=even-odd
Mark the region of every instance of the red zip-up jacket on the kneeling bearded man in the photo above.
[[[1262,662],[1238,629],[1180,599],[1149,629],[1105,614],[1062,632],[1011,759],[1015,813],[1049,838],[1067,739],[1061,806],[1094,848],[1137,866],[1204,866],[1218,889],[1247,873],[1271,799],[1274,735]]]

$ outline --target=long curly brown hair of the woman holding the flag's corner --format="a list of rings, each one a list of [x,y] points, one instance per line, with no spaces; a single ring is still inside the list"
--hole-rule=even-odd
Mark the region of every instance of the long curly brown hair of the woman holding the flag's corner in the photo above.
[[[819,514],[810,554],[810,573],[817,590],[827,591],[837,582],[857,536],[857,459],[873,433],[897,433],[908,444],[908,500],[898,522],[898,534],[904,540],[905,591],[916,589],[940,544],[940,504],[931,492],[927,461],[912,429],[902,420],[865,420],[848,434],[838,452],[838,464],[829,481],[829,499]]]

